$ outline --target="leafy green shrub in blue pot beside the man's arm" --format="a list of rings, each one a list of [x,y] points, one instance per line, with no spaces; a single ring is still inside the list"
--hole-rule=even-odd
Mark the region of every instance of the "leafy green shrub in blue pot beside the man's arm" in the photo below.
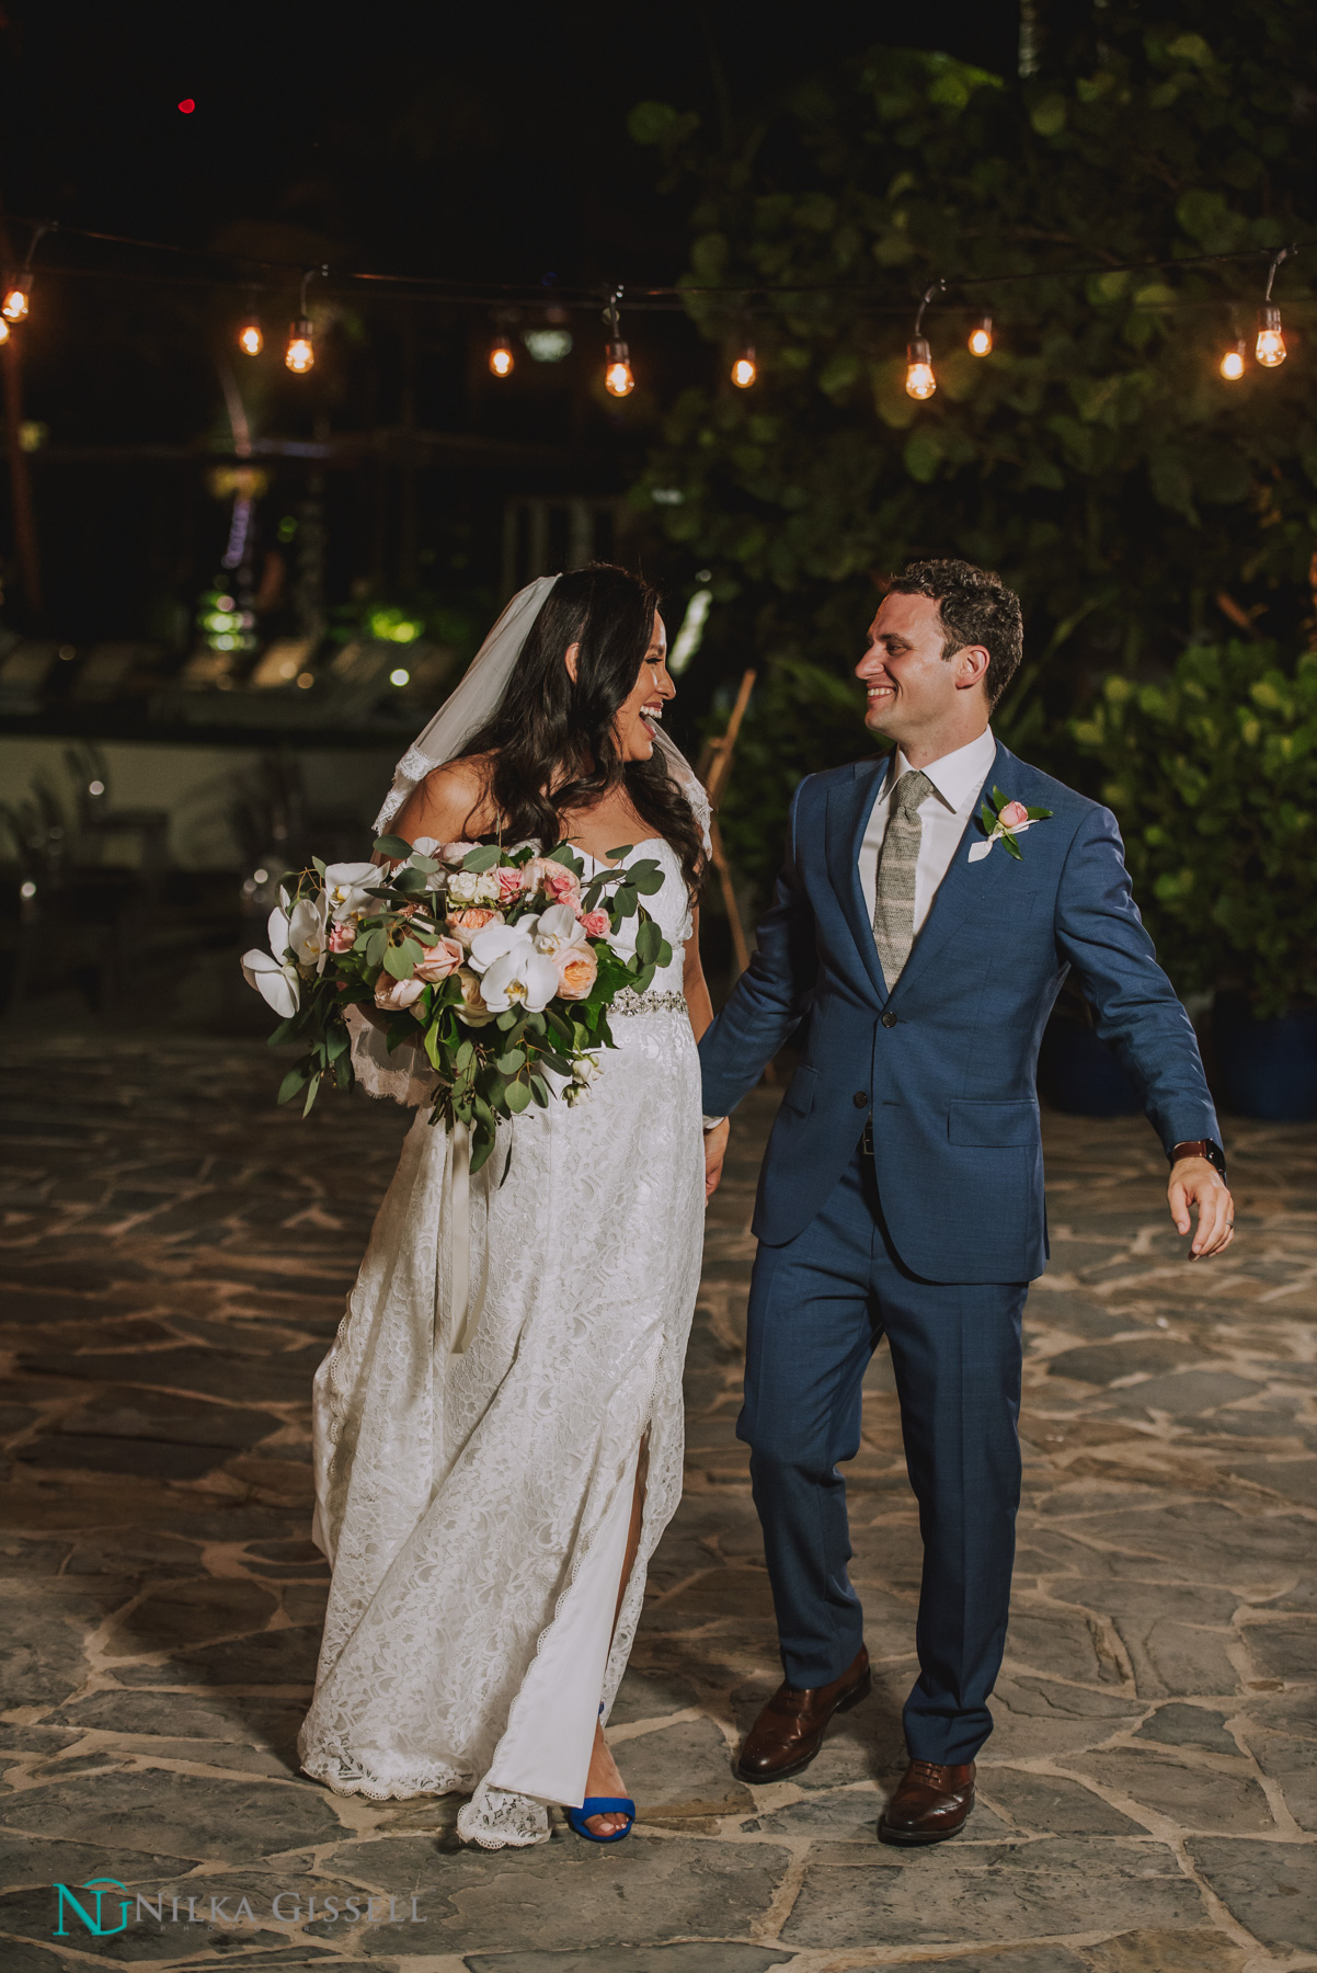
[[[1224,1107],[1317,1117],[1317,653],[1191,645],[1161,683],[1106,679],[1071,732],[1177,992],[1214,992]]]

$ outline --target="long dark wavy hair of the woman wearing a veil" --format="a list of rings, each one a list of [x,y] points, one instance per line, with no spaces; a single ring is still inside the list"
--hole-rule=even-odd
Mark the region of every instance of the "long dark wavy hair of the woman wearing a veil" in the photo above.
[[[704,874],[704,837],[686,795],[660,748],[651,760],[623,760],[613,734],[617,708],[635,691],[657,608],[649,582],[611,562],[558,576],[499,710],[471,734],[461,758],[487,756],[487,793],[513,842],[558,842],[562,815],[625,785],[649,829],[678,852],[694,894]],[[576,681],[564,663],[572,643],[580,645]]]

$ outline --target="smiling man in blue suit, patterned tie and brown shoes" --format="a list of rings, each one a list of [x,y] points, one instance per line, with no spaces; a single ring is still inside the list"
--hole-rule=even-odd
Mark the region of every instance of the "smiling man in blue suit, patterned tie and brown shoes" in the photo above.
[[[787,1677],[737,1768],[798,1774],[869,1691],[838,1462],[860,1446],[860,1387],[887,1336],[925,1565],[911,1762],[885,1843],[964,1825],[992,1732],[1019,1324],[1047,1265],[1035,1063],[1071,967],[1144,1091],[1179,1233],[1197,1207],[1191,1259],[1222,1253],[1234,1225],[1193,1028],[1140,923],[1116,821],[992,736],[1021,641],[1019,600],[970,562],[915,562],[891,584],[856,675],[866,724],[895,752],[800,783],[759,949],[700,1044],[712,1190],[726,1113],[804,1024],[759,1180],[737,1425]]]

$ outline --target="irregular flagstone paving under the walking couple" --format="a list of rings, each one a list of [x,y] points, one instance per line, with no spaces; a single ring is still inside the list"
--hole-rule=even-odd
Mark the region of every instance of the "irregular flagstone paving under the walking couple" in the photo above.
[[[751,1099],[686,1499],[611,1726],[641,1825],[487,1855],[453,1799],[343,1801],[296,1768],[325,1600],[308,1391],[404,1117],[339,1099],[302,1125],[276,1079],[248,1044],[8,1050],[6,1973],[1317,1967],[1315,1131],[1230,1131],[1240,1231],[1209,1269],[1142,1121],[1049,1119],[998,1726],[966,1833],[893,1851],[919,1537],[885,1355],[850,1476],[875,1697],[797,1782],[731,1774],[779,1677],[733,1438],[775,1101]],[[51,1886],[95,1916],[91,1878],[126,1886],[126,1930],[112,1884],[106,1936],[59,1920]]]

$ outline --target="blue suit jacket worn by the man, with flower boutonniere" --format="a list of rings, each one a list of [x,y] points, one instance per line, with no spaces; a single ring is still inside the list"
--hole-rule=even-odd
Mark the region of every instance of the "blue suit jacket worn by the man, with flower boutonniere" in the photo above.
[[[1220,1131],[1189,1016],[1144,931],[1116,819],[998,746],[994,785],[1053,811],[1021,860],[964,831],[893,992],[856,858],[885,760],[800,783],[759,947],[700,1044],[704,1109],[726,1115],[808,1016],[759,1180],[755,1235],[795,1239],[866,1117],[887,1231],[927,1280],[1031,1280],[1047,1261],[1037,1052],[1069,967],[1098,1034],[1171,1150]],[[978,803],[976,803],[978,809]]]

